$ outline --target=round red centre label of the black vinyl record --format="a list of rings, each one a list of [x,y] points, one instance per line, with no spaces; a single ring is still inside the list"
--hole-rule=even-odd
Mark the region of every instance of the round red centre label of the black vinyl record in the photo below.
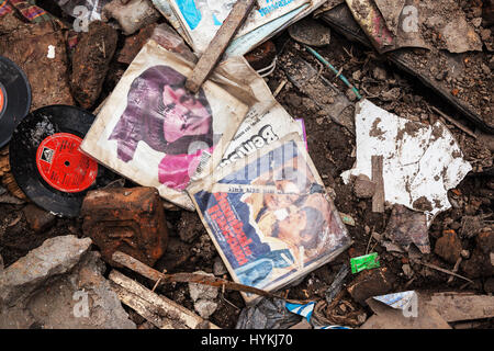
[[[82,139],[74,134],[57,133],[40,144],[37,169],[43,179],[56,190],[77,193],[85,191],[98,176],[98,163],[79,151]]]

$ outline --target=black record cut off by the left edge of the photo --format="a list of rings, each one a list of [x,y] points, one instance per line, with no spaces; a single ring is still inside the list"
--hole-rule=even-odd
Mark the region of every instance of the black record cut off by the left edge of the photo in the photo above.
[[[0,148],[9,143],[15,126],[31,106],[31,87],[25,73],[0,56]]]

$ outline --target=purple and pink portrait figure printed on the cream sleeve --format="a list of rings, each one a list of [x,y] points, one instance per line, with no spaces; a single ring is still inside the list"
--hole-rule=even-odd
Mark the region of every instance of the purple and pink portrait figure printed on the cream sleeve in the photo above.
[[[184,89],[186,77],[171,67],[154,66],[131,84],[127,106],[110,135],[117,140],[117,157],[134,159],[139,141],[166,154],[159,163],[161,184],[183,190],[204,150],[213,148],[212,110],[200,89]]]

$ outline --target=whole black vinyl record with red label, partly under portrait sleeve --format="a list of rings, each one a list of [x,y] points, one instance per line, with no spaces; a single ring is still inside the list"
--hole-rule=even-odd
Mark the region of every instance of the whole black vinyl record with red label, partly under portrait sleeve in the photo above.
[[[114,173],[79,149],[93,120],[82,109],[52,105],[29,114],[14,131],[9,147],[12,174],[40,207],[77,217],[86,193],[113,180]]]

